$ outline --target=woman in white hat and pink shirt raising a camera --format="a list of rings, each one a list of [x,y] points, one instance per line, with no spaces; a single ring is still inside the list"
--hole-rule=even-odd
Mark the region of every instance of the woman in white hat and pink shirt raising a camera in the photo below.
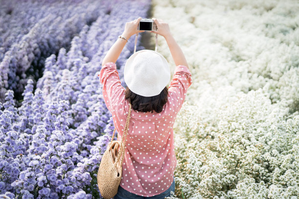
[[[114,199],[164,199],[174,192],[176,158],[172,126],[192,84],[185,56],[173,39],[168,23],[152,18],[163,36],[176,68],[169,87],[170,70],[165,58],[151,50],[138,51],[127,61],[125,89],[119,80],[115,62],[128,39],[136,33],[142,18],[126,23],[122,37],[116,40],[102,62],[100,81],[103,97],[121,140],[131,104],[131,118],[122,165],[122,178]]]

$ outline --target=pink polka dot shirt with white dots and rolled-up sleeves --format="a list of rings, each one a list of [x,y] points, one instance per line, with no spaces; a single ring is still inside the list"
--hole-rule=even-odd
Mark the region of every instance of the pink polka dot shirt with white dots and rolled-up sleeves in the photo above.
[[[121,140],[128,116],[128,100],[116,64],[106,63],[98,75],[103,97]],[[120,186],[139,196],[151,197],[166,191],[173,182],[176,158],[172,126],[182,107],[191,73],[178,65],[168,88],[168,101],[161,113],[131,110]]]

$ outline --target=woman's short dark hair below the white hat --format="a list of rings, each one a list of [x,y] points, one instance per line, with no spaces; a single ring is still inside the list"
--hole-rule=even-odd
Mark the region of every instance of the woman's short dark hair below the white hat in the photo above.
[[[152,97],[144,97],[133,93],[128,87],[126,89],[125,99],[132,105],[132,109],[140,112],[155,111],[161,113],[163,106],[166,104],[168,98],[167,86],[161,91],[159,95]]]

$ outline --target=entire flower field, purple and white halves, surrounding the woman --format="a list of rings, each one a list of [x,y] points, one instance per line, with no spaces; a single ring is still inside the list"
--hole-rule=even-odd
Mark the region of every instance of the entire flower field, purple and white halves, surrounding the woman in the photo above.
[[[299,199],[299,1],[0,4],[0,198],[102,198],[96,177],[114,125],[97,74],[126,22],[155,17],[193,80],[173,128],[169,199]],[[123,86],[134,39],[116,62]],[[157,51],[173,74],[162,36]]]

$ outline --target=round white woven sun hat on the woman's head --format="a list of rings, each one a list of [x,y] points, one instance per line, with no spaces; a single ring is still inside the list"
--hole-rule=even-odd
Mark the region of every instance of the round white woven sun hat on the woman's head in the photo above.
[[[124,79],[128,88],[144,97],[156,96],[170,81],[167,60],[153,50],[140,50],[131,55],[125,65]]]

